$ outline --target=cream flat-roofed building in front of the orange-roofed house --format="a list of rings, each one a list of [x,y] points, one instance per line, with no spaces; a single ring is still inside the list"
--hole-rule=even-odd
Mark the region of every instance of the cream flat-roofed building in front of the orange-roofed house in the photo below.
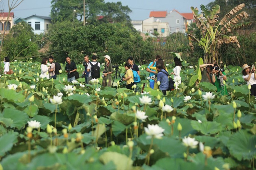
[[[154,31],[157,31],[159,36],[167,37],[169,35],[169,24],[168,22],[161,22],[159,19],[150,17],[143,20],[143,31],[148,33],[154,33]]]

